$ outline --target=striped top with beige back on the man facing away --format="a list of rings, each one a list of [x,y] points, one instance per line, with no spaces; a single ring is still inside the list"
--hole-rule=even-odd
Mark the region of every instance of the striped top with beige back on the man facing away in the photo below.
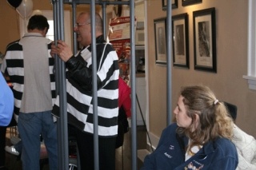
[[[54,58],[50,56],[49,39],[42,34],[27,33],[20,41],[10,43],[1,70],[14,85],[14,113],[52,109]]]

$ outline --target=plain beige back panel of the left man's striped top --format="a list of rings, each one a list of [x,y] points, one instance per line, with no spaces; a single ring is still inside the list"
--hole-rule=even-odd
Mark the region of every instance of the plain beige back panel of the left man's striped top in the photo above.
[[[24,93],[22,113],[52,109],[48,44],[50,40],[38,33],[28,33],[19,42],[24,56]]]

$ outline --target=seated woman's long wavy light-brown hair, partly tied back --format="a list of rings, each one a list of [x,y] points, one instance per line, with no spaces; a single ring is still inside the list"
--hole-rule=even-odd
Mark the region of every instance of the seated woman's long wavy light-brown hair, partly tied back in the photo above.
[[[188,86],[182,89],[181,95],[184,97],[186,114],[192,118],[192,123],[188,128],[179,127],[177,132],[190,138],[189,149],[218,137],[231,139],[233,120],[226,106],[217,100],[210,88],[204,85]]]

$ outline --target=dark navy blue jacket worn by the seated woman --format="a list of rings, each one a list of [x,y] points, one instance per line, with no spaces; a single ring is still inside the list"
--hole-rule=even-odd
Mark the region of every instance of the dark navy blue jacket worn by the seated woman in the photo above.
[[[204,144],[194,156],[185,161],[184,146],[188,144],[188,139],[178,136],[177,128],[176,124],[172,124],[163,130],[158,147],[145,157],[143,170],[235,170],[238,166],[237,150],[225,138]]]

